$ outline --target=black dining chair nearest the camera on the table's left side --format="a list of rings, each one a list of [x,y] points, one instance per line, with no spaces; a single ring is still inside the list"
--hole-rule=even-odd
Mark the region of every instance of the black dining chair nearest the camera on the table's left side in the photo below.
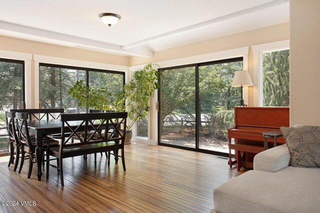
[[[29,159],[29,169],[27,178],[30,178],[33,163],[36,163],[34,160],[35,158],[35,147],[36,147],[36,140],[35,137],[30,137],[28,131],[28,113],[15,113],[15,125],[17,128],[17,139],[19,140],[20,148],[21,148],[21,163],[19,167],[18,173],[21,173],[23,163],[25,159]],[[57,147],[59,141],[57,140],[46,140],[43,143],[43,152],[47,151],[47,145],[50,144],[51,147]]]

